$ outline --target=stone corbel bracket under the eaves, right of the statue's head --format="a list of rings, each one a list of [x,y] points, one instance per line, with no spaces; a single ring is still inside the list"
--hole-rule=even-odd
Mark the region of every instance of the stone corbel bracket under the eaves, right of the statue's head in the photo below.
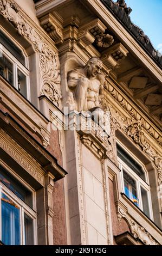
[[[119,68],[121,60],[128,54],[128,50],[120,42],[102,52],[101,60],[106,68],[111,71]]]

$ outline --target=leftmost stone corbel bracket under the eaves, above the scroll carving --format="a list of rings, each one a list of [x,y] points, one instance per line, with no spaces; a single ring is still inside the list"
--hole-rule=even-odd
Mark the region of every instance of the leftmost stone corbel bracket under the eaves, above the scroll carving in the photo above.
[[[60,18],[60,19],[59,19]],[[54,40],[55,44],[63,44],[63,27],[61,25],[61,17],[54,17],[49,13],[40,18],[40,24],[44,30],[49,34],[50,38]]]

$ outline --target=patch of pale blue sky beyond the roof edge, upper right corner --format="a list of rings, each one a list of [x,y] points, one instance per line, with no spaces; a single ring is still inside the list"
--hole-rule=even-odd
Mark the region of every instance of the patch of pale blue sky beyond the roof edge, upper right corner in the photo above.
[[[115,2],[115,1],[114,1]],[[162,0],[125,0],[131,7],[131,21],[150,38],[154,48],[162,53]]]

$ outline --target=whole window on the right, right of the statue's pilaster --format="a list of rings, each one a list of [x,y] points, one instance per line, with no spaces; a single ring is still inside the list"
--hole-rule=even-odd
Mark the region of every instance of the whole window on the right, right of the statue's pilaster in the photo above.
[[[150,186],[147,183],[148,178],[144,168],[119,144],[117,144],[117,152],[123,192],[148,217],[152,218]]]

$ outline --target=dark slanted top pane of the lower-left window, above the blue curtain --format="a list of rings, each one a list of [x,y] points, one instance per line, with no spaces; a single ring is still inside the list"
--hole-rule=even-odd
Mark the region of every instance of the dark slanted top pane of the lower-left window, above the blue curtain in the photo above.
[[[0,181],[31,208],[33,207],[32,193],[1,166]]]

